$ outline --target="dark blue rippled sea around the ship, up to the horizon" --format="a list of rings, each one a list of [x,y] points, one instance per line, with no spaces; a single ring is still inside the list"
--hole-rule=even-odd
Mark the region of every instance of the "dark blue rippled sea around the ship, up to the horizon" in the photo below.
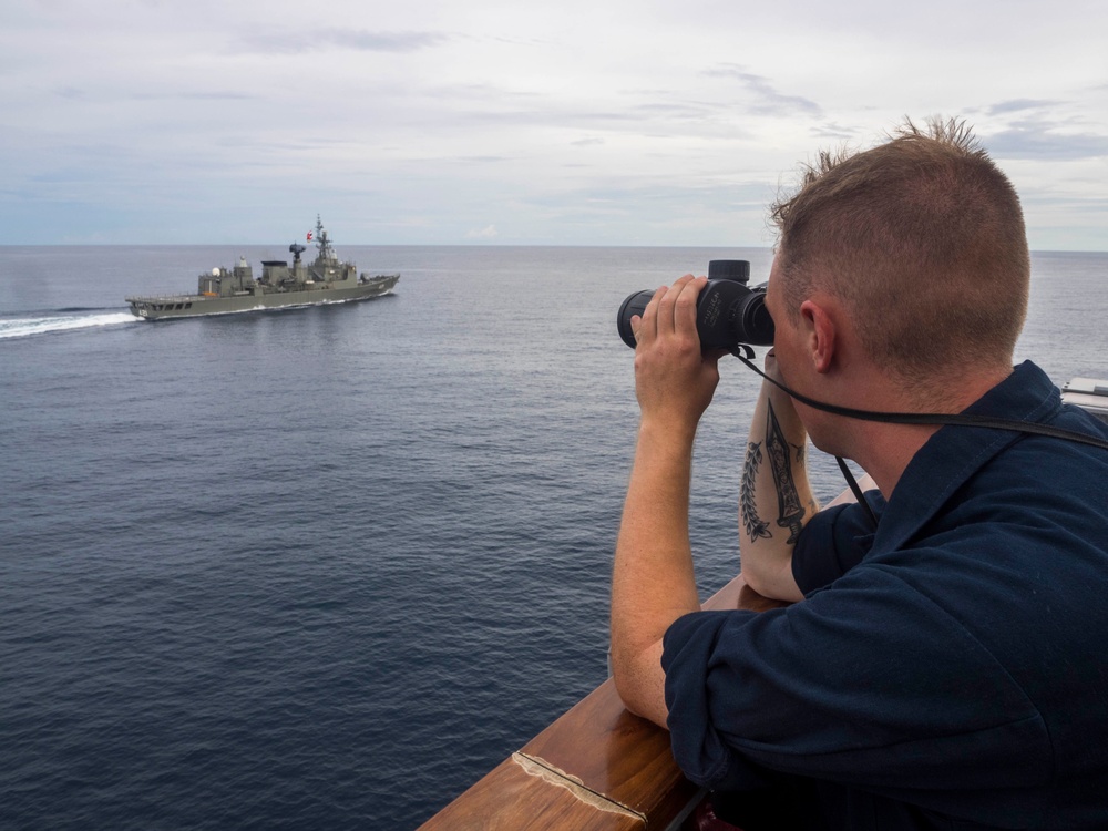
[[[616,309],[770,252],[337,247],[396,294],[148,322],[124,295],[287,255],[0,248],[0,828],[411,829],[604,680]],[[1036,255],[1019,358],[1108,377],[1106,280]],[[738,568],[759,387],[722,375],[705,595]]]

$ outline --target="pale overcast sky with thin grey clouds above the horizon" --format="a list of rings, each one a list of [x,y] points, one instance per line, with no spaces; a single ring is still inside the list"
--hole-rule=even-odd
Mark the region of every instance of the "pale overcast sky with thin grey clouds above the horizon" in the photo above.
[[[768,246],[944,114],[1108,250],[1106,55],[1105,0],[3,0],[0,244]]]

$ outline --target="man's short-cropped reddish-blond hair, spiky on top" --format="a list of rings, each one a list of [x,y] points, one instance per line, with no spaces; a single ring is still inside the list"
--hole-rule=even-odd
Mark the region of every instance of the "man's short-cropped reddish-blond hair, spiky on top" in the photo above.
[[[1030,283],[1023,211],[964,123],[905,121],[871,150],[823,153],[771,212],[789,315],[827,291],[909,382],[1010,366]]]

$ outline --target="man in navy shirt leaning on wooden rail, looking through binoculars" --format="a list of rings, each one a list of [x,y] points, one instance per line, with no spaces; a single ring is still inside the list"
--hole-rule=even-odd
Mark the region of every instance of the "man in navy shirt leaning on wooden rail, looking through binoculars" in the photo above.
[[[1108,451],[1042,434],[1108,429],[1012,366],[1030,271],[1014,188],[961,123],[909,122],[822,155],[773,217],[767,371],[796,398],[763,386],[740,554],[750,587],[794,603],[700,611],[689,480],[719,353],[687,275],[633,320],[620,696],[740,824],[772,793],[779,828],[1108,827]],[[806,435],[872,476],[868,505],[818,512]]]

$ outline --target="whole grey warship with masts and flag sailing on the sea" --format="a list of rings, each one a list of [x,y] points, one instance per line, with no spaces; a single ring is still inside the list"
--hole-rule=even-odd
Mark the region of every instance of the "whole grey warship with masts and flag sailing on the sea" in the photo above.
[[[310,233],[308,242],[312,242]],[[257,279],[246,258],[239,257],[233,269],[213,268],[209,274],[202,274],[195,295],[136,296],[124,300],[135,317],[164,320],[368,300],[390,294],[400,279],[399,274],[359,275],[353,263],[340,261],[318,216],[315,243],[319,252],[310,265],[300,260],[305,247],[294,243],[288,247],[293,265],[283,259],[263,260],[261,277]]]

